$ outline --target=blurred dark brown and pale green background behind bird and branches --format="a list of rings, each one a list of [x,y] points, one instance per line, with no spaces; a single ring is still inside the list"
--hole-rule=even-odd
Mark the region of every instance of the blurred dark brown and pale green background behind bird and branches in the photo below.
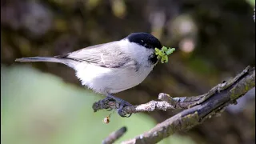
[[[154,34],[176,47],[141,85],[119,94],[132,104],[206,93],[255,65],[254,0],[1,0],[1,142],[101,143],[127,126],[116,143],[150,130],[178,110],[133,114],[94,113],[102,97],[84,89],[74,70],[56,63],[16,63],[115,41],[132,32]],[[255,143],[255,89],[221,117],[159,143]]]

